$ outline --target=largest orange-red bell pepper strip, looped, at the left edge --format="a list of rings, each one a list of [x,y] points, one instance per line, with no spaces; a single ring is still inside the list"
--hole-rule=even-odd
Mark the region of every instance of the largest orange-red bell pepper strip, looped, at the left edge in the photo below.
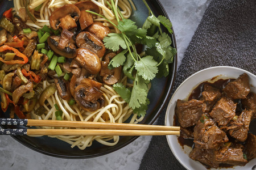
[[[22,54],[19,52],[19,50],[11,47],[11,46],[8,46],[8,45],[3,45],[0,47],[0,52],[3,52],[5,50],[13,50],[13,52],[16,54],[16,56],[18,57],[21,57],[24,59],[24,61],[22,60],[11,60],[11,61],[5,61],[2,57],[0,57],[0,61],[2,61],[3,63],[5,63],[6,65],[14,65],[16,63],[20,63],[20,64],[24,64],[24,63],[27,63],[28,62],[28,58],[26,55]]]

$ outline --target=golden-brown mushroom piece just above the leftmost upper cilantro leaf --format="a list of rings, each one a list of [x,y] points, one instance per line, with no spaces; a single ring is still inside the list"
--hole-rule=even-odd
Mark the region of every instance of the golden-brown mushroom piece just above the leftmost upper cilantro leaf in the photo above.
[[[87,30],[96,35],[101,41],[111,32],[109,27],[104,26],[101,22],[94,22]]]

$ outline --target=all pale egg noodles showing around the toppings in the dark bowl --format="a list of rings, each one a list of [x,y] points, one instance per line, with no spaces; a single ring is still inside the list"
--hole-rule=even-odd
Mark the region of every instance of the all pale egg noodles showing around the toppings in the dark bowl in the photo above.
[[[33,23],[32,20],[28,18],[26,24],[31,27],[33,30],[42,28],[44,25],[49,27],[49,16],[51,12],[56,8],[61,7],[66,4],[74,4],[78,1],[68,1],[68,0],[31,0],[29,8],[33,10],[37,6],[43,3],[40,11],[35,12],[37,22]],[[107,19],[111,20],[113,23],[117,24],[115,19],[114,12],[106,6],[106,0],[92,0],[93,3],[100,7],[100,14],[104,15]],[[111,3],[109,1],[109,3]],[[131,15],[132,8],[135,10],[135,6],[131,0],[116,0],[115,6],[121,8],[122,15],[124,18],[129,18]],[[22,0],[14,0],[14,13],[19,15],[20,8],[24,8]],[[118,32],[118,29],[112,27],[112,24],[108,23],[105,19],[96,16],[94,21],[104,22],[104,25],[112,28],[112,31]],[[124,76],[119,82],[123,83],[125,86],[133,86],[133,84],[127,83],[127,77]],[[39,86],[43,90],[48,87],[50,84],[54,83],[53,80],[44,80],[40,82]],[[58,105],[59,109],[63,111],[62,119],[69,121],[93,121],[93,122],[127,122],[130,124],[137,124],[142,121],[144,117],[139,117],[137,114],[133,114],[133,110],[129,105],[124,101],[112,88],[104,84],[100,89],[103,92],[102,97],[105,100],[105,107],[98,109],[95,112],[86,112],[84,111],[79,104],[69,105],[66,100],[61,99],[58,95],[57,90],[55,94],[51,95],[46,99],[45,104],[43,105],[46,108],[47,113],[38,116],[35,114],[35,110],[40,107],[39,103],[35,105],[34,111],[31,112],[31,117],[38,120],[56,120],[55,104]],[[55,127],[41,127],[43,129],[68,129],[68,128],[55,128]],[[70,129],[70,128],[69,128]],[[49,137],[58,138],[62,141],[65,141],[71,144],[71,147],[79,147],[81,150],[84,150],[86,147],[92,145],[93,141],[97,141],[102,145],[114,146],[119,141],[119,136],[92,136],[92,135],[50,135]]]

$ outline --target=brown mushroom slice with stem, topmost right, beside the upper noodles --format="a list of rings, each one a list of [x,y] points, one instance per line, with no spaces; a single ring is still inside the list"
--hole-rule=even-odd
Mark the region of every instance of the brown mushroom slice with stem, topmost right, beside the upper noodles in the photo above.
[[[82,30],[88,27],[89,25],[93,24],[92,14],[86,12],[86,10],[90,10],[96,13],[100,12],[100,8],[95,3],[90,1],[77,2],[75,6],[77,6],[81,12],[79,23]]]

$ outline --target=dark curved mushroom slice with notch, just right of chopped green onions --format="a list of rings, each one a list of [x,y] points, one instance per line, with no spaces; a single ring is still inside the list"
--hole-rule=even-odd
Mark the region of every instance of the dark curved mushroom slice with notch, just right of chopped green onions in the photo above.
[[[48,45],[53,50],[53,52],[67,58],[76,57],[76,46],[74,44],[68,42],[68,44],[62,49],[59,48],[59,41],[60,36],[49,36],[47,39]]]

